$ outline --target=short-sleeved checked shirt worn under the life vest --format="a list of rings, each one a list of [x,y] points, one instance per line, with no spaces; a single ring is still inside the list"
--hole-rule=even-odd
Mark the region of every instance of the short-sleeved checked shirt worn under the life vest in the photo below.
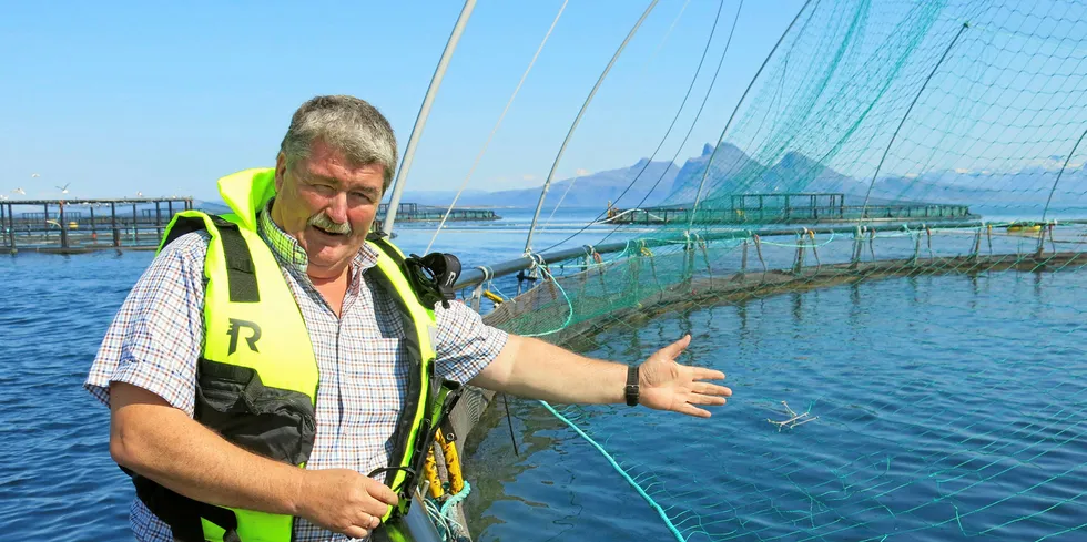
[[[364,246],[351,264],[342,316],[336,317],[306,275],[307,257],[297,241],[268,217],[258,233],[272,247],[313,342],[321,374],[317,434],[307,469],[354,469],[366,474],[388,466],[393,431],[407,393],[407,333],[393,293],[373,279],[378,253]],[[193,416],[196,358],[202,351],[204,256],[207,233],[183,235],[160,254],[132,288],[112,325],[84,387],[110,403],[110,382],[121,381],[161,396]],[[507,335],[454,301],[435,310],[435,362],[439,377],[466,382],[506,345]],[[170,528],[134,499],[130,513],[136,540],[171,542]],[[298,542],[346,541],[304,519],[295,522]]]

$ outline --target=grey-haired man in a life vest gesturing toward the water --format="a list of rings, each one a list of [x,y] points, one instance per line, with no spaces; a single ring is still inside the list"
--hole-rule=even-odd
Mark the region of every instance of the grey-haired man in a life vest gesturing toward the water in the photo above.
[[[723,374],[675,364],[690,336],[631,388],[626,364],[506,334],[461,303],[424,306],[403,255],[367,241],[396,162],[376,109],[318,96],[294,114],[274,170],[220,181],[228,221],[171,224],[85,382],[136,482],[138,540],[368,536],[412,483],[443,379],[700,417],[731,395],[702,381]]]

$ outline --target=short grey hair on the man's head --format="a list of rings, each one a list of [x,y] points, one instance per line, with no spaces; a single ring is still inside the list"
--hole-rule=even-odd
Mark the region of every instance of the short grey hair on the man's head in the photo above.
[[[355,96],[315,96],[302,104],[287,129],[280,152],[287,166],[309,157],[313,142],[321,140],[344,153],[352,165],[380,165],[385,168],[383,192],[396,171],[396,136],[393,126],[376,108]]]

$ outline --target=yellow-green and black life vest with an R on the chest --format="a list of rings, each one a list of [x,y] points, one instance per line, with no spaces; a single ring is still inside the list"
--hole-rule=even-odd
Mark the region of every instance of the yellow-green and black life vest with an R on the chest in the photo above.
[[[297,301],[257,234],[256,213],[275,196],[274,175],[274,170],[262,168],[221,178],[220,194],[233,213],[179,213],[159,250],[189,232],[204,229],[211,236],[204,260],[204,347],[196,370],[194,419],[250,451],[305,468],[316,432],[321,375]],[[413,289],[404,254],[376,236],[367,244],[379,254],[367,273],[393,294],[409,329],[407,400],[393,437],[390,463],[383,469],[390,473],[389,487],[399,493],[402,504],[385,514],[383,520],[388,520],[404,513],[410,502],[417,480],[413,474],[420,470],[449,389],[435,382],[434,309],[424,306]],[[140,499],[171,525],[176,540],[292,540],[293,517],[214,507],[133,478]]]

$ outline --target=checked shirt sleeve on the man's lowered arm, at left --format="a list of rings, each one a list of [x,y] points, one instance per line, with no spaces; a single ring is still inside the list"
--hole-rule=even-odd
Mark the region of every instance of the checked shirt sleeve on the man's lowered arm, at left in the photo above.
[[[126,382],[193,415],[207,238],[195,232],[166,246],[114,316],[83,384],[106,407],[110,382]]]

